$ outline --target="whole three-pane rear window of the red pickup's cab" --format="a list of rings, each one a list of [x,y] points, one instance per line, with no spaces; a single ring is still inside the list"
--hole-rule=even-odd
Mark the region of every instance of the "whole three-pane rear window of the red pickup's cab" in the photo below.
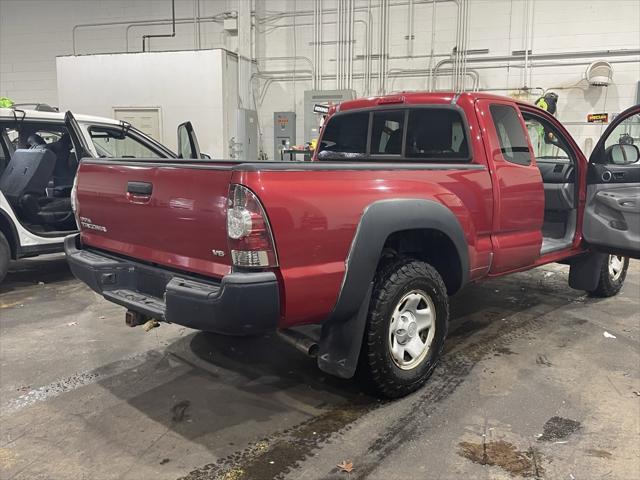
[[[467,129],[454,108],[374,109],[334,115],[324,128],[318,160],[466,162]]]

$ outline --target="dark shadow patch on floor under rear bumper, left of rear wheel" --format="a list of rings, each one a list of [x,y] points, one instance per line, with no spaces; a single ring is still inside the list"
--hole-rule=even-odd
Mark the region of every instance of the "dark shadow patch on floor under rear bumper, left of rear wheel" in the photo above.
[[[245,446],[335,407],[375,402],[353,382],[322,374],[314,359],[275,334],[190,334],[99,383],[216,455],[237,449],[233,442]]]

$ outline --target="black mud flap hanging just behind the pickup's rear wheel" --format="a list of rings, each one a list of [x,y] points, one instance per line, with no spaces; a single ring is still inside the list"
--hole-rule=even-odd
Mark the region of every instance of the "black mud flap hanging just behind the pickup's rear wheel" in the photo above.
[[[358,312],[352,317],[346,320],[329,318],[323,323],[318,352],[318,367],[323,372],[341,378],[355,375],[372,291],[373,282]]]

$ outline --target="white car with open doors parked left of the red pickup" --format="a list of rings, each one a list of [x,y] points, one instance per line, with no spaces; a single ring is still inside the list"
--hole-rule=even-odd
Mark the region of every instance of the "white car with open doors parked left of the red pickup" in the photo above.
[[[78,140],[64,113],[35,107],[0,108],[0,282],[11,259],[62,252],[64,237],[77,230],[70,193]],[[176,157],[128,123],[87,115],[75,122],[85,145],[81,157]],[[181,155],[199,158],[191,124],[181,125],[179,136]]]

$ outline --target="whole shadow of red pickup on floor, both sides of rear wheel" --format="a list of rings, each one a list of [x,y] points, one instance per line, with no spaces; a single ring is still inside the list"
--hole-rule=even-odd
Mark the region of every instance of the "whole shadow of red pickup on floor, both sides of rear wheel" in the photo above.
[[[463,290],[451,302],[443,361],[455,355],[454,349],[464,351],[482,342],[482,330],[506,317],[580,301],[584,294],[569,289],[566,281],[566,272],[537,271]],[[99,383],[145,417],[218,458],[330,412],[349,411],[348,424],[381,404],[356,382],[322,373],[314,359],[275,334],[193,333],[154,352],[141,365]],[[438,376],[436,370],[432,381]],[[428,389],[429,384],[414,396]],[[331,428],[343,427],[338,423]]]

